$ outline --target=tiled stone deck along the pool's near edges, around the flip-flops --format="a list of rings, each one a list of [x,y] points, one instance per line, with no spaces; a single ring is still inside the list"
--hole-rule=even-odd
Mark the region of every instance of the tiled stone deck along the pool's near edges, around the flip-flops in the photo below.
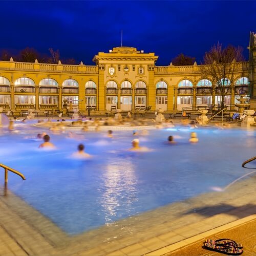
[[[204,238],[223,237],[224,230],[236,226],[239,236],[243,223],[248,226],[246,230],[251,230],[248,238],[256,233],[255,183],[256,176],[251,175],[226,191],[205,193],[77,236],[68,236],[11,191],[0,187],[0,255],[186,255],[182,250],[190,248],[190,243],[196,254],[189,255],[198,255],[198,251],[202,255],[198,246]],[[227,235],[237,239],[233,231]],[[237,240],[249,243],[246,237]],[[246,255],[255,254],[255,244],[252,251],[246,248]]]

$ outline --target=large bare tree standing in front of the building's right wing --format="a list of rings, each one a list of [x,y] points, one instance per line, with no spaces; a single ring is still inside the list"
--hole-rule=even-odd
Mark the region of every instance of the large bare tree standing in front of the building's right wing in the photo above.
[[[237,62],[239,61],[244,61],[242,47],[228,46],[222,48],[219,43],[212,46],[204,55],[203,65],[200,66],[202,78],[211,80],[212,90],[221,95],[221,109],[224,108],[225,95],[239,78],[237,72],[239,66]]]

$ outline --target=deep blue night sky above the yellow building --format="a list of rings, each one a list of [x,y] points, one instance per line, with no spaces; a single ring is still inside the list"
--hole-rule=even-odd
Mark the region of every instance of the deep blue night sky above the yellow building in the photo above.
[[[94,65],[98,52],[136,47],[169,65],[179,53],[196,57],[218,41],[242,46],[256,31],[255,1],[0,1],[0,50],[59,49],[60,58]],[[49,54],[50,55],[50,54]]]

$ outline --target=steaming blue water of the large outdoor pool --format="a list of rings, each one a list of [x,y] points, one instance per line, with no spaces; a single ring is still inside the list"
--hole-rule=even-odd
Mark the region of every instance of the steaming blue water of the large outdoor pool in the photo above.
[[[225,187],[248,172],[241,164],[255,151],[255,132],[240,129],[151,130],[136,138],[152,151],[130,152],[132,131],[115,131],[113,139],[106,132],[77,132],[78,139],[49,133],[57,150],[45,151],[33,139],[44,130],[16,128],[2,129],[1,162],[26,181],[9,173],[8,188],[71,235]],[[198,143],[188,143],[192,131]],[[166,143],[169,135],[176,144]],[[71,158],[79,143],[92,159]]]

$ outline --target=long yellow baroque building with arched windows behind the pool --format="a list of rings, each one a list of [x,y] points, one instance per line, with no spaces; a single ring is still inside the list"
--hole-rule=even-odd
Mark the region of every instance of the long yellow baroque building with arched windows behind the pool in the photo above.
[[[237,77],[229,84],[225,105],[236,109],[240,94],[250,97],[256,108],[253,86],[256,74],[256,34],[251,33],[250,58],[237,63]],[[200,65],[156,66],[158,56],[133,47],[116,47],[94,56],[96,66],[0,61],[0,107],[21,112],[80,111],[108,112],[163,109],[168,112],[195,110],[197,106],[218,108],[221,96],[215,85],[202,77]],[[249,100],[248,97],[248,100]],[[65,101],[65,99],[67,101]]]

